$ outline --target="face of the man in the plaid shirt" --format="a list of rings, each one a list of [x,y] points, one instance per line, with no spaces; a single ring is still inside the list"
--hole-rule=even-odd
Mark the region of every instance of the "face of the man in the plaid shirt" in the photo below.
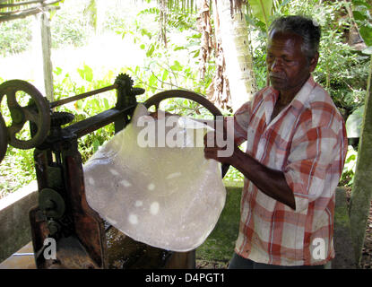
[[[302,37],[293,33],[272,32],[267,46],[266,63],[275,90],[297,93],[317,64],[301,50]]]

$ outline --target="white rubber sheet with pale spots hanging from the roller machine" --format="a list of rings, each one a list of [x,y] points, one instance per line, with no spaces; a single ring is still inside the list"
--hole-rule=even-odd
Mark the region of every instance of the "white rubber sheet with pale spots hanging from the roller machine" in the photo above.
[[[161,139],[156,147],[141,147],[159,137],[143,136],[161,123],[143,125],[148,115],[139,104],[132,122],[84,165],[88,204],[132,239],[167,250],[195,249],[225,204],[221,164],[203,156],[206,126],[185,117],[174,116],[177,126],[165,128],[182,139],[175,147],[169,147],[174,141],[163,147]]]

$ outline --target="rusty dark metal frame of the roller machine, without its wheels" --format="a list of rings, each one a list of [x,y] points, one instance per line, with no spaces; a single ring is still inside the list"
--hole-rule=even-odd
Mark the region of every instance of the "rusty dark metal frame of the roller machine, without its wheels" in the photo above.
[[[105,223],[86,201],[82,157],[77,141],[82,135],[110,123],[115,122],[118,131],[129,122],[137,103],[135,94],[140,92],[135,91],[132,85],[132,80],[121,74],[114,85],[50,104],[51,107],[57,107],[117,89],[115,108],[71,126],[57,128],[35,149],[39,192],[46,188],[56,190],[63,196],[66,210],[62,218],[57,219],[48,218],[39,205],[30,210],[32,243],[38,268],[108,268]],[[46,260],[42,256],[47,238],[56,239],[57,258],[54,260]]]

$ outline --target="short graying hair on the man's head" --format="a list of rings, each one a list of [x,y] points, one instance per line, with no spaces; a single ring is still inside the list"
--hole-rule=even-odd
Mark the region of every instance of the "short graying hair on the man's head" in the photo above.
[[[269,28],[269,36],[273,31],[282,33],[295,33],[302,37],[302,52],[307,60],[316,56],[319,49],[320,26],[319,24],[303,16],[283,16],[273,21]]]

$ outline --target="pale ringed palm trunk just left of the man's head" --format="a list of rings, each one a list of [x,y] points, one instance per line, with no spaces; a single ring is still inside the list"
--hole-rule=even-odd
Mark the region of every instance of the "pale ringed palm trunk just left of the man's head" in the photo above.
[[[251,100],[255,93],[255,76],[249,48],[247,22],[239,8],[231,7],[229,0],[214,0],[213,12],[218,15],[226,75],[229,81],[230,106],[236,111]],[[215,21],[217,27],[217,22]],[[216,56],[218,57],[218,55]]]

